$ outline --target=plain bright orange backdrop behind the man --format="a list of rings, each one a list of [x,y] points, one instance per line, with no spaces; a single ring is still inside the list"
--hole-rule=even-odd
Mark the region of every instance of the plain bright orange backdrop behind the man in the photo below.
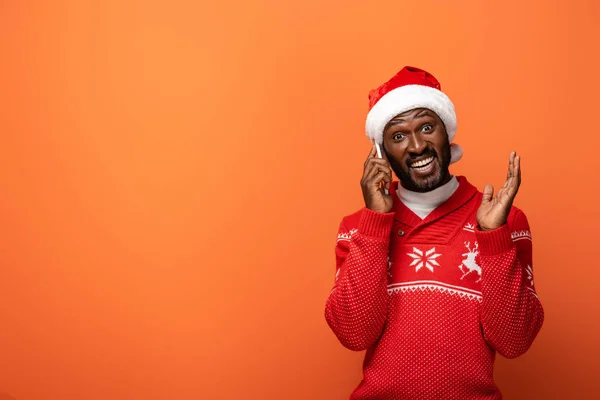
[[[362,205],[367,92],[408,64],[456,104],[454,173],[499,185],[523,157],[546,322],[500,388],[593,398],[599,18],[593,0],[2,1],[0,393],[347,399],[362,354],[323,316],[335,235]]]

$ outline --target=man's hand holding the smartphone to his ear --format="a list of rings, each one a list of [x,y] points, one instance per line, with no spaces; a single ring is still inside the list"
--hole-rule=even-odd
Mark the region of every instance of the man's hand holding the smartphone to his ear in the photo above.
[[[365,161],[360,186],[367,208],[376,212],[387,213],[392,209],[393,200],[392,196],[386,194],[384,189],[388,192],[390,190],[392,168],[385,154],[382,157],[377,158],[377,150],[373,145],[369,157]]]

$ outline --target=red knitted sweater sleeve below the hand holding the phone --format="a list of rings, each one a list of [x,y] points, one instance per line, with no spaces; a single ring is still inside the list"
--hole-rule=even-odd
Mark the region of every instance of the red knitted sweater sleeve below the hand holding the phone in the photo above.
[[[383,331],[388,313],[388,251],[394,213],[363,209],[358,226],[340,224],[336,278],[327,299],[327,323],[348,349],[366,350]]]

